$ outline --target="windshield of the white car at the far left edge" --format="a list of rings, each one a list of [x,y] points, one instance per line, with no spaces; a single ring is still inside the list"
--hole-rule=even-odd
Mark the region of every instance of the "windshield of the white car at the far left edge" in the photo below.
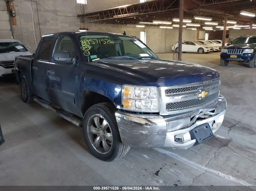
[[[0,53],[26,52],[25,46],[20,42],[0,43]]]

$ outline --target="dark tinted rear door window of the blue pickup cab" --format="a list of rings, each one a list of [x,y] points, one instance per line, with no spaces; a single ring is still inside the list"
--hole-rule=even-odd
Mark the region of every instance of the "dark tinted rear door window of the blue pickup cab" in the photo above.
[[[54,41],[54,37],[45,37],[42,40],[38,51],[38,59],[47,61],[49,60]]]

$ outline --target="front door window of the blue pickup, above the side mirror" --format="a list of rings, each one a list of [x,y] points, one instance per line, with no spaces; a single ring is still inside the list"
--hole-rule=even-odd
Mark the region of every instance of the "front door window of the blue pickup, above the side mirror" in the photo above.
[[[71,40],[70,37],[68,36],[60,36],[59,39],[57,40],[54,53],[64,51],[69,54],[69,58],[75,58],[75,48],[74,44]]]

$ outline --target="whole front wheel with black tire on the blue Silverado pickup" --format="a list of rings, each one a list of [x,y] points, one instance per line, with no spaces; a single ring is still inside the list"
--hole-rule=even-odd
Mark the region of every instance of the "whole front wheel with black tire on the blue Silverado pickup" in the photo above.
[[[115,111],[116,108],[110,103],[98,103],[86,111],[83,119],[83,134],[88,149],[102,161],[115,161],[130,149],[121,142]]]

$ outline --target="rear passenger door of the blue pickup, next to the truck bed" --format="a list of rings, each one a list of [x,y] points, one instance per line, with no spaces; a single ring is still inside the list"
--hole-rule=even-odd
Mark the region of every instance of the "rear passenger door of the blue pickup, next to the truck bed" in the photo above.
[[[47,92],[47,67],[51,57],[54,36],[44,37],[39,46],[32,64],[32,79],[35,91],[39,97],[49,101]]]

